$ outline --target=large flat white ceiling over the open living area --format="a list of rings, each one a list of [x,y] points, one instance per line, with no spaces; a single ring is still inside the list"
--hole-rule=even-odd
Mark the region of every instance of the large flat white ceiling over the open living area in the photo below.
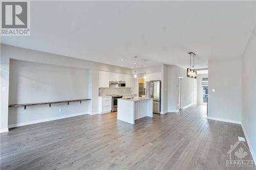
[[[254,27],[255,2],[31,2],[31,35],[4,44],[112,65],[196,67],[241,56]],[[123,59],[123,61],[121,61]]]

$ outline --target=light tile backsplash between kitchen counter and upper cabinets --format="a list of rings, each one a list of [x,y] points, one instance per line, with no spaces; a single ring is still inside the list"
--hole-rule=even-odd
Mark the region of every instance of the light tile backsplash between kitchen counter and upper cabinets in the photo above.
[[[99,96],[108,94],[131,94],[131,88],[99,88]]]

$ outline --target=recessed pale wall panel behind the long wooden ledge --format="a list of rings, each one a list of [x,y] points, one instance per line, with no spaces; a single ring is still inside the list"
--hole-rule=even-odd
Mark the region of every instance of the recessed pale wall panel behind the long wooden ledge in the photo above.
[[[89,98],[89,70],[10,60],[9,104]],[[90,102],[9,108],[9,127],[41,119],[88,113]],[[59,111],[61,109],[61,111]]]

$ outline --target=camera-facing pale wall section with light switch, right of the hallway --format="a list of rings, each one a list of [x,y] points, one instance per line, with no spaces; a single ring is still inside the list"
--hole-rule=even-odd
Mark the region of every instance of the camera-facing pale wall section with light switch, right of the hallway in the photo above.
[[[241,58],[209,60],[208,118],[241,123],[241,62]]]

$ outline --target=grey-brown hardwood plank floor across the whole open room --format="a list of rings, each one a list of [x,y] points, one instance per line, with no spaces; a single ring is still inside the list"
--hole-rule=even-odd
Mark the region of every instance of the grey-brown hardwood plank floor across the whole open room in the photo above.
[[[226,167],[238,136],[240,125],[208,120],[205,106],[135,125],[116,113],[82,115],[2,133],[1,169],[255,169]]]

